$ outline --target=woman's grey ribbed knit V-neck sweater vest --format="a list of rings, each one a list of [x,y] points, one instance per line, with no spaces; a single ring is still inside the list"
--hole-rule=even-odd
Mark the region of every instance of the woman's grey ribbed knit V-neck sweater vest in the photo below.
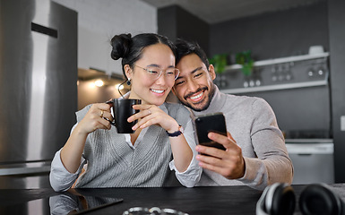
[[[165,103],[168,115],[185,126],[189,111],[179,104]],[[77,112],[80,122],[89,107]],[[75,187],[152,187],[178,185],[169,169],[172,151],[166,131],[151,125],[135,149],[125,142],[125,135],[111,130],[96,130],[88,135],[84,147],[88,168]]]

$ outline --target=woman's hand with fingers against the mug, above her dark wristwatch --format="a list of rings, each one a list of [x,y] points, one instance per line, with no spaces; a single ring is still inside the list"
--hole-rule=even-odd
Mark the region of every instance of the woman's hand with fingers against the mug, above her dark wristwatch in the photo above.
[[[150,125],[160,125],[168,133],[176,132],[178,129],[177,121],[168,116],[160,107],[155,105],[134,105],[134,109],[140,110],[139,113],[130,116],[128,122],[133,122],[138,119],[138,123],[133,126],[135,131],[138,128],[145,128]]]

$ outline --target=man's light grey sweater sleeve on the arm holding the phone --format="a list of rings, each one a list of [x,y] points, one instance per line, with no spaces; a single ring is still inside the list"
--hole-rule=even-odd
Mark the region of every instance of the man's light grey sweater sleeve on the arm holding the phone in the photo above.
[[[252,103],[251,140],[257,158],[245,158],[245,185],[263,190],[273,183],[292,183],[293,166],[272,107],[263,99]]]

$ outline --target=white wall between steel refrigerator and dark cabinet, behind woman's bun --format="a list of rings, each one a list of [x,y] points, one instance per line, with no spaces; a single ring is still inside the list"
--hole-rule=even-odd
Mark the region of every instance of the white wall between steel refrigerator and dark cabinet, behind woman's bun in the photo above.
[[[120,60],[110,58],[110,39],[157,33],[157,9],[140,0],[53,0],[78,13],[78,67],[121,73]]]

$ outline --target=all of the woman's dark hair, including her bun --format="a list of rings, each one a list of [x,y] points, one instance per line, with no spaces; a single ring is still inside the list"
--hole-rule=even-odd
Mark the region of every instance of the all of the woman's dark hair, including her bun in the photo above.
[[[142,57],[142,49],[157,43],[165,44],[176,56],[175,45],[168,38],[155,33],[142,33],[132,38],[130,33],[115,35],[111,39],[111,58],[117,60],[122,57],[122,72],[125,75],[125,64],[133,68],[134,63]],[[125,75],[126,77],[126,75]]]

